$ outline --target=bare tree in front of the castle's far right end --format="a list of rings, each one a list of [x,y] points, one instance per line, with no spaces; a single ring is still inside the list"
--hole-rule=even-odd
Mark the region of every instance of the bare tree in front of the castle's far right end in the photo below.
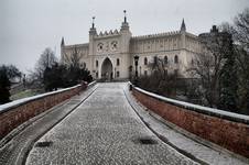
[[[227,47],[224,44],[224,36],[218,32],[201,36],[203,40],[203,53],[197,55],[192,67],[187,70],[199,79],[199,95],[204,103],[216,107],[219,100],[219,78],[224,66],[224,54]]]

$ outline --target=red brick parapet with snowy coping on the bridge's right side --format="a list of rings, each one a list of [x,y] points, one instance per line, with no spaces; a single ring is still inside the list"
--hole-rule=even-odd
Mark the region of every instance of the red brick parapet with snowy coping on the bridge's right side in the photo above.
[[[249,157],[249,117],[169,99],[132,88],[133,96],[166,121],[204,140]]]

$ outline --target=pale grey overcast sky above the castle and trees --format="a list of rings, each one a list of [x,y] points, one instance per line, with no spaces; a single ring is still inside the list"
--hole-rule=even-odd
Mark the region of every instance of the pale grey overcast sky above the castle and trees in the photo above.
[[[1,0],[0,64],[26,72],[45,47],[59,57],[62,36],[66,44],[87,43],[93,15],[98,32],[120,29],[126,9],[132,35],[180,30],[183,18],[199,34],[247,7],[249,0]]]

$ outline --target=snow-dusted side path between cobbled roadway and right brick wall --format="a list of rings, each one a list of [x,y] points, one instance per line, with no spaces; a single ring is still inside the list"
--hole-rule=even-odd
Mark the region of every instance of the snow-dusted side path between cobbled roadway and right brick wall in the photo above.
[[[248,163],[238,160],[235,156],[231,156],[228,153],[220,153],[210,147],[207,147],[196,141],[193,141],[190,138],[181,134],[178,131],[171,129],[165,123],[163,119],[156,117],[153,112],[148,111],[143,106],[136,101],[133,96],[129,94],[128,87],[124,87],[126,94],[130,103],[136,108],[137,112],[141,118],[153,129],[158,134],[163,135],[170,143],[174,146],[194,155],[196,158],[206,162],[208,164],[218,164],[218,165],[246,165]],[[151,116],[153,113],[153,116]],[[154,118],[156,117],[156,118]]]

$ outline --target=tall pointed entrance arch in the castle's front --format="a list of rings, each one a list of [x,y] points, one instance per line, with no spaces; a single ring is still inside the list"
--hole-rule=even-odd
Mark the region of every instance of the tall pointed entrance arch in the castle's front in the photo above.
[[[102,62],[101,66],[101,78],[106,80],[111,80],[113,78],[113,72],[112,72],[112,64],[111,61],[107,57]]]

